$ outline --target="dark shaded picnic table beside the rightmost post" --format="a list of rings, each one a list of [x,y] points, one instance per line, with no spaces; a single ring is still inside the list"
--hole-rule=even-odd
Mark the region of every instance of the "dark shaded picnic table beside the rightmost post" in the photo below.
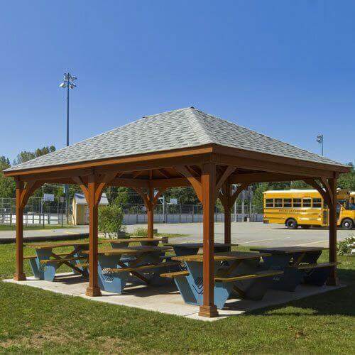
[[[324,285],[329,277],[330,268],[335,263],[317,263],[322,251],[327,248],[315,246],[281,246],[252,248],[253,251],[269,253],[264,258],[267,268],[282,270],[284,273],[275,278],[271,288],[275,290],[294,291],[304,282],[311,285]]]

